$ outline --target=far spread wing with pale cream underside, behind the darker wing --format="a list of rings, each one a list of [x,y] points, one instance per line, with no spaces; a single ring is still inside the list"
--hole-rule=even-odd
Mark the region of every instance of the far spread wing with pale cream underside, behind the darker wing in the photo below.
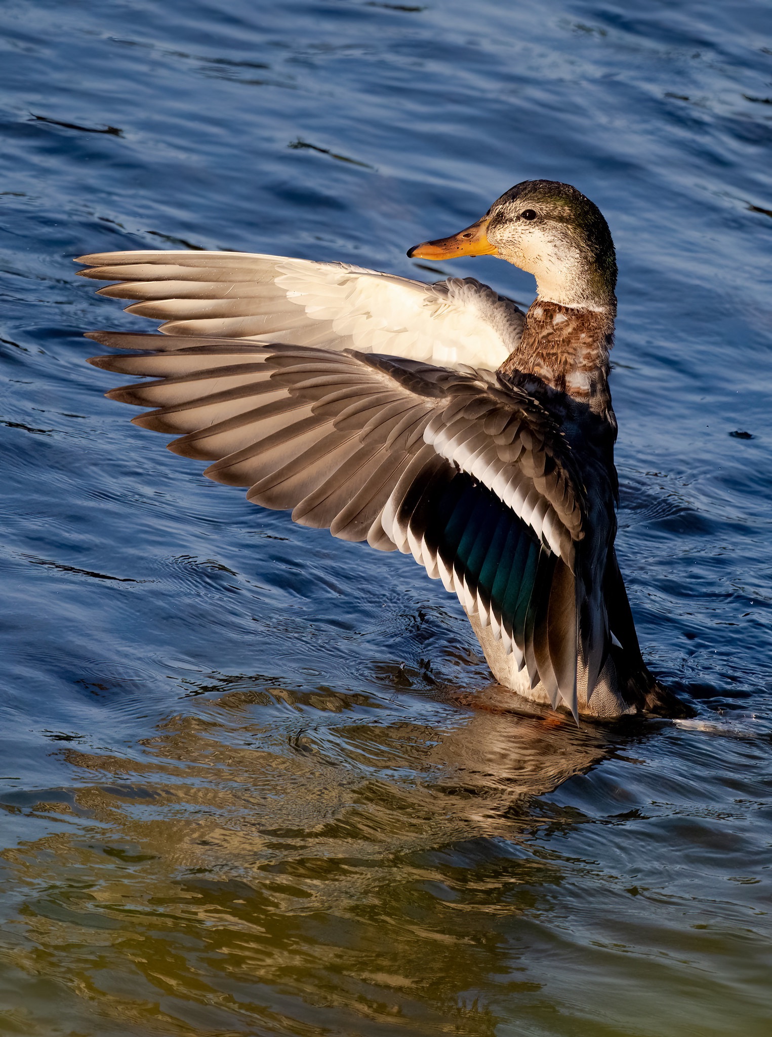
[[[523,314],[471,278],[423,284],[347,263],[239,252],[103,252],[81,277],[169,335],[269,339],[495,370]]]

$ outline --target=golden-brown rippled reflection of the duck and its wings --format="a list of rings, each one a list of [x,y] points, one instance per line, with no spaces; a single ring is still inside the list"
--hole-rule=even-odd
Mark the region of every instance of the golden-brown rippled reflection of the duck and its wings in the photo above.
[[[617,745],[605,726],[577,728],[543,706],[512,712],[497,685],[432,696],[429,723],[363,693],[246,676],[228,685],[195,716],[160,723],[137,759],[67,750],[70,765],[95,776],[77,800],[175,867],[251,871],[294,858],[309,839],[315,856],[335,859],[353,845],[373,858],[388,846],[511,838],[513,811]],[[134,809],[143,802],[152,803],[146,818]]]

